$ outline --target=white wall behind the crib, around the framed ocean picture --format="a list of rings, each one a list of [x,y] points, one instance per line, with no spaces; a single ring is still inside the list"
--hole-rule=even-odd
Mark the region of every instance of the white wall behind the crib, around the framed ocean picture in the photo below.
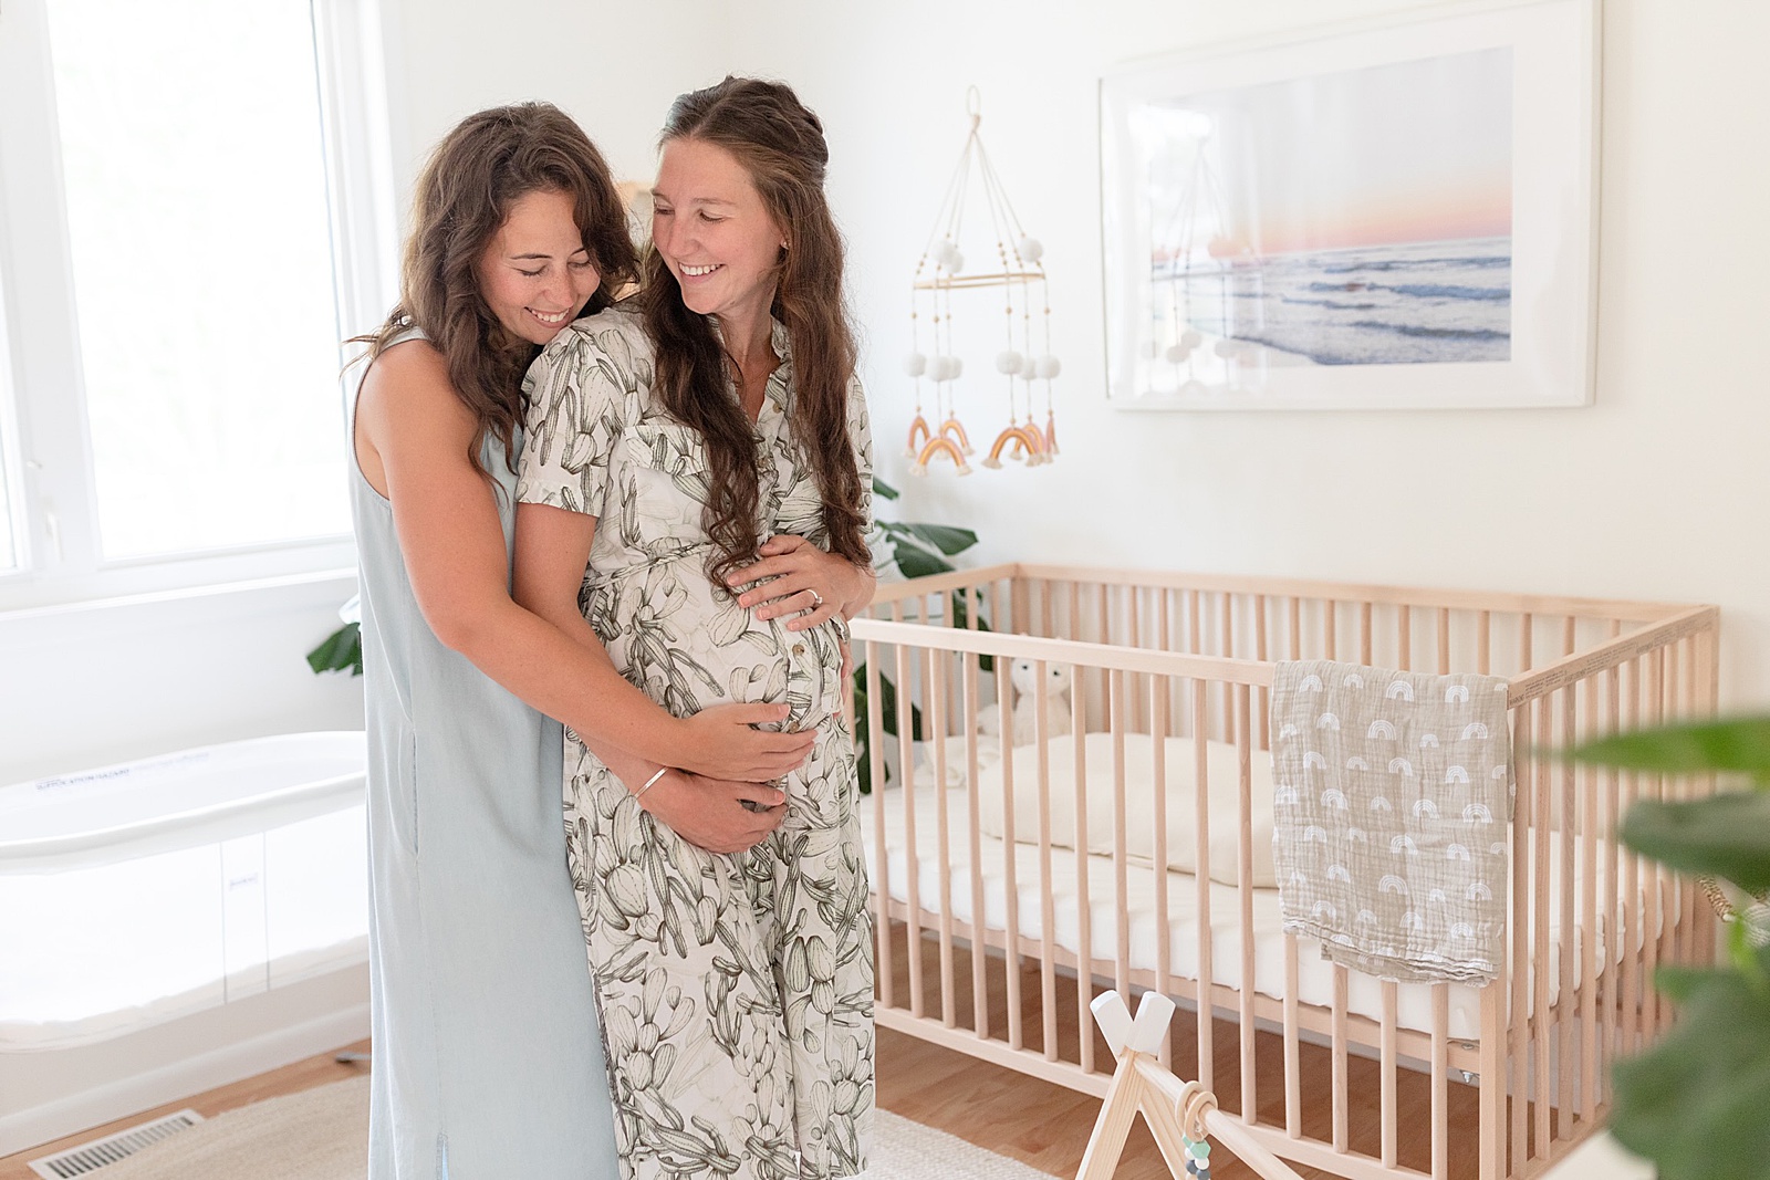
[[[984,559],[1066,559],[1715,601],[1722,693],[1770,702],[1770,9],[1607,0],[1597,403],[1577,410],[1152,414],[1103,395],[1097,78],[1135,58],[1441,5],[1395,0],[745,0],[733,67],[830,129],[901,513]],[[1046,244],[1062,458],[912,479],[910,271],[982,90],[982,133]],[[974,368],[988,363],[979,349]],[[968,412],[974,433],[998,423]],[[974,439],[975,442],[975,439]],[[1397,456],[1485,476],[1460,506],[1389,490]]]

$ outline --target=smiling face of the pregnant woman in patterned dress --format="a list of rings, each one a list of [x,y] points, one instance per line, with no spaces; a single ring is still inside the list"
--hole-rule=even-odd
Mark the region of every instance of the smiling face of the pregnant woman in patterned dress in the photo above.
[[[690,311],[719,317],[727,333],[766,318],[786,234],[736,156],[696,138],[666,143],[651,241]]]

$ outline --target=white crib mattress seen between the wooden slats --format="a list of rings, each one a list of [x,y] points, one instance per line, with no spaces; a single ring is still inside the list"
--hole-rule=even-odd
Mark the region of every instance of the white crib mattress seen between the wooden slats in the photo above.
[[[873,888],[885,888],[892,900],[910,900],[908,872],[908,830],[913,816],[917,847],[917,902],[927,911],[940,911],[940,865],[950,862],[950,902],[952,918],[974,922],[972,900],[972,830],[965,789],[942,793],[933,785],[919,785],[912,793],[912,805],[906,807],[903,789],[892,787],[883,793],[885,846],[887,858],[883,872],[876,863],[876,816],[874,800],[860,801],[862,826],[866,828],[866,856]],[[942,807],[947,812],[949,847],[942,856],[938,839],[938,821]],[[1007,863],[1009,849],[998,837],[979,835],[977,865],[984,883],[982,922],[988,931],[1007,931]],[[1575,890],[1584,877],[1582,849],[1575,846]],[[1609,865],[1609,847],[1598,844],[1600,892],[1598,906],[1604,909],[1605,899],[1614,892],[1605,892],[1602,877]],[[1067,952],[1081,948],[1081,874],[1074,849],[1053,847],[1051,870],[1046,881],[1039,865],[1039,847],[1035,844],[1014,844],[1014,892],[1018,899],[1020,934],[1028,939],[1044,938],[1044,893],[1051,895],[1051,941]],[[1089,913],[1089,954],[1099,961],[1117,959],[1119,923],[1127,927],[1133,971],[1154,971],[1158,964],[1158,927],[1156,927],[1156,888],[1158,874],[1154,865],[1127,860],[1126,895],[1117,895],[1115,869],[1110,856],[1085,856],[1087,869],[1087,913]],[[1551,897],[1559,897],[1561,888],[1561,849],[1559,840],[1551,840],[1549,879]],[[1168,973],[1175,978],[1197,980],[1198,946],[1198,881],[1189,872],[1165,874],[1168,895]],[[1667,913],[1676,913],[1680,902],[1676,883],[1660,890],[1660,911],[1651,915],[1651,936],[1664,929]],[[1253,987],[1258,994],[1281,1000],[1285,996],[1285,934],[1278,904],[1278,890],[1257,888],[1253,893]],[[1575,893],[1577,908],[1577,893]],[[1558,909],[1558,906],[1556,906]],[[1646,925],[1646,899],[1635,906]],[[1214,984],[1241,991],[1243,946],[1241,946],[1241,895],[1232,885],[1211,883],[1211,978]],[[1549,1001],[1554,1003],[1561,985],[1561,955],[1574,955],[1574,982],[1579,985],[1584,968],[1584,938],[1588,931],[1575,927],[1572,938],[1563,938],[1559,916],[1551,918],[1549,961],[1531,962],[1529,969],[1547,969]],[[1605,954],[1602,927],[1597,931],[1598,971],[1620,961],[1621,945],[1614,955]],[[1510,938],[1508,938],[1510,946]],[[1535,975],[1529,978],[1531,1001],[1535,1003]],[[1333,1003],[1333,964],[1320,957],[1320,943],[1310,938],[1297,939],[1297,1000],[1306,1005],[1329,1007]],[[1481,992],[1466,984],[1450,985],[1450,1037],[1473,1040],[1480,1035]],[[1349,973],[1347,1010],[1354,1015],[1382,1019],[1382,985],[1375,977],[1358,971]],[[1397,1021],[1400,1028],[1430,1033],[1432,1030],[1432,985],[1400,984]]]

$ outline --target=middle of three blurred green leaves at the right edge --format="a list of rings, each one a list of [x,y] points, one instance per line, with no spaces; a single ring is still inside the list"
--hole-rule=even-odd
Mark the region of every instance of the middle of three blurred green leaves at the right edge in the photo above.
[[[1726,877],[1751,893],[1770,890],[1770,791],[1637,800],[1623,816],[1621,837],[1673,869]]]

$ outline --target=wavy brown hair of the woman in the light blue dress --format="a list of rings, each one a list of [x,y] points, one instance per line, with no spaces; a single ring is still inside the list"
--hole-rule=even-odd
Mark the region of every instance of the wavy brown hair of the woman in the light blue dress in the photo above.
[[[480,421],[467,458],[480,474],[487,435],[504,448],[515,471],[515,433],[522,421],[522,375],[540,347],[520,340],[492,313],[480,294],[474,265],[529,193],[554,189],[573,202],[573,221],[584,237],[602,283],[584,315],[614,303],[616,292],[639,272],[627,232],[627,211],[602,152],[584,131],[550,103],[517,103],[469,115],[450,131],[425,165],[412,195],[412,234],[405,241],[400,303],[372,334],[368,357],[407,327],[419,327],[448,361],[455,396]]]

